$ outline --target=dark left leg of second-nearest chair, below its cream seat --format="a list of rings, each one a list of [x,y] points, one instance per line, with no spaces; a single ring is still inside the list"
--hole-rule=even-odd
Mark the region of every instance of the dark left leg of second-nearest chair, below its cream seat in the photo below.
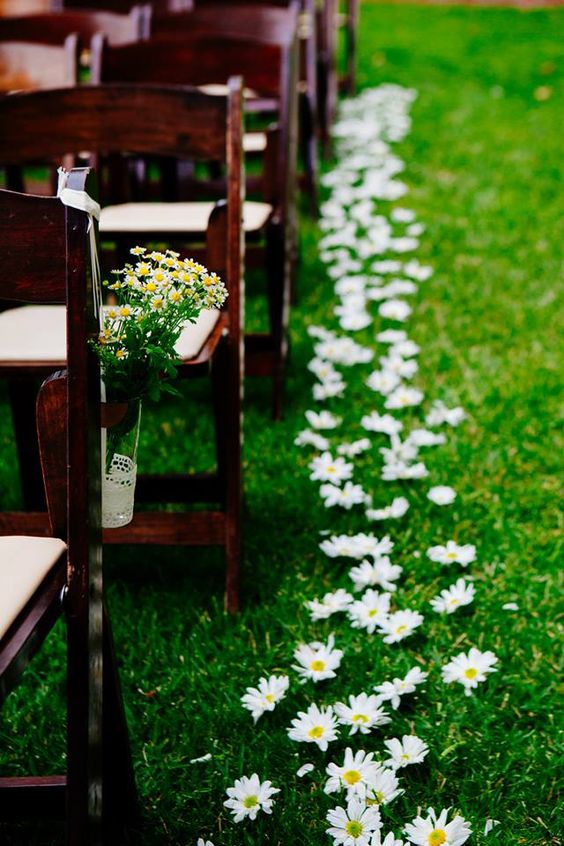
[[[47,508],[35,424],[38,387],[35,379],[21,378],[8,381],[22,496],[24,508],[27,511],[45,511]]]

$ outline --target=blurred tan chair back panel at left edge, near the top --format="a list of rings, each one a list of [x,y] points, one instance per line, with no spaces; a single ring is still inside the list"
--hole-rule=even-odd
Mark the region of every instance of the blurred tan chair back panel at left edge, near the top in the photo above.
[[[78,82],[78,38],[68,35],[59,45],[32,41],[0,42],[0,93],[60,88]]]

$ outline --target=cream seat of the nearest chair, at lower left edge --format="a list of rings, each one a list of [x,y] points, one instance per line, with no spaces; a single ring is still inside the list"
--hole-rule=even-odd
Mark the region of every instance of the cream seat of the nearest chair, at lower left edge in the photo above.
[[[0,537],[0,639],[66,548],[58,538]]]

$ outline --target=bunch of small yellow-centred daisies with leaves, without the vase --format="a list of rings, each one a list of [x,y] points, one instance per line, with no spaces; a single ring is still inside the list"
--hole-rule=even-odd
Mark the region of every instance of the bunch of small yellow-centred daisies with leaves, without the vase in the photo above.
[[[104,307],[93,344],[110,402],[156,400],[163,390],[174,392],[167,380],[176,376],[175,345],[183,326],[227,297],[220,278],[192,259],[143,247],[131,253],[136,262],[113,270],[113,281],[103,283],[113,302]]]

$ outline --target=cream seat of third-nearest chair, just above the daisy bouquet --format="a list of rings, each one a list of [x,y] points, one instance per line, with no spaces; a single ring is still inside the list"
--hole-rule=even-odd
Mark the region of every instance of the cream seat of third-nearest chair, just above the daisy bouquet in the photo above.
[[[122,203],[106,206],[100,215],[100,232],[205,232],[213,202],[193,203]],[[269,203],[252,200],[243,206],[245,232],[262,229],[270,215]]]

